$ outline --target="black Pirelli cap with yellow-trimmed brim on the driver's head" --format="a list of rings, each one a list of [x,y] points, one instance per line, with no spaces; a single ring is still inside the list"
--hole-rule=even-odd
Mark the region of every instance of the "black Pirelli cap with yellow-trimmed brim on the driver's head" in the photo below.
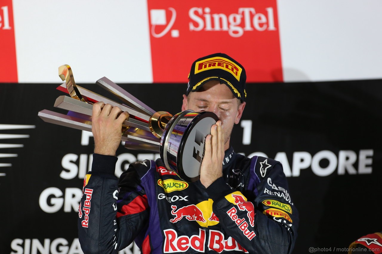
[[[196,92],[208,81],[219,80],[231,89],[236,98],[244,101],[247,96],[246,78],[244,67],[230,56],[223,53],[204,56],[191,65],[186,95]]]

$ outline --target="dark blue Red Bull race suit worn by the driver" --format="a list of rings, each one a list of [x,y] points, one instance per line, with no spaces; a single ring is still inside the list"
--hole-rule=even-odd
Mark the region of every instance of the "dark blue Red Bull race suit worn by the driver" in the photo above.
[[[298,211],[280,162],[225,151],[223,177],[207,189],[160,159],[115,177],[117,157],[93,155],[79,207],[85,253],[117,253],[133,240],[142,253],[291,253]]]

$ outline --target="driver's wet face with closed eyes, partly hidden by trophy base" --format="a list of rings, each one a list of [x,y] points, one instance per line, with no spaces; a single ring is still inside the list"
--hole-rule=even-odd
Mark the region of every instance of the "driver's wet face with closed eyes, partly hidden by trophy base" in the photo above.
[[[233,125],[239,123],[244,106],[245,102],[238,106],[238,99],[227,85],[220,84],[218,80],[212,80],[204,84],[197,92],[189,93],[188,97],[183,95],[182,111],[192,109],[214,112],[222,121],[224,148],[227,150]]]

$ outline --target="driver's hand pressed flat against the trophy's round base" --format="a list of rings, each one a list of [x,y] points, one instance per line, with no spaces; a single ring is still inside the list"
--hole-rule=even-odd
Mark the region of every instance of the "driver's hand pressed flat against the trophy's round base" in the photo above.
[[[206,150],[200,170],[200,182],[208,187],[217,178],[223,176],[224,132],[222,121],[217,121],[211,127],[211,134],[206,137]]]

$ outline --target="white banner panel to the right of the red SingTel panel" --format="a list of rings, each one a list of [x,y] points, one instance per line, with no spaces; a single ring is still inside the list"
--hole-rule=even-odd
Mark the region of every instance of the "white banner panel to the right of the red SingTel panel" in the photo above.
[[[285,82],[382,77],[382,1],[277,1]]]

